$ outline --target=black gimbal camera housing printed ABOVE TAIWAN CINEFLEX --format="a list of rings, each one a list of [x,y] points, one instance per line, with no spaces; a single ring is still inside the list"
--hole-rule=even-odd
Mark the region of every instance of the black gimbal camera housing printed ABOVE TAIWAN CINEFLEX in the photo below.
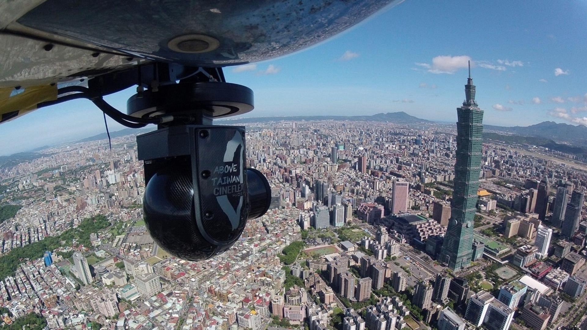
[[[245,130],[180,125],[137,136],[144,220],[156,243],[185,260],[227,250],[269,208],[263,174],[245,169]],[[250,183],[250,184],[249,184]]]

